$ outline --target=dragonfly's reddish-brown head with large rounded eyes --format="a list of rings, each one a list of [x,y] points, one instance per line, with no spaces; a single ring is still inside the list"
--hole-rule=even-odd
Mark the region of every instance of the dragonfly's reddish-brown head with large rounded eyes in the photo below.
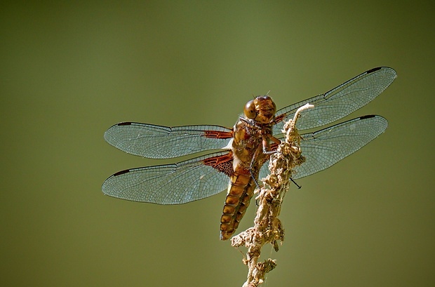
[[[276,105],[269,95],[259,95],[246,103],[243,112],[247,119],[253,119],[260,124],[270,124],[274,121]]]

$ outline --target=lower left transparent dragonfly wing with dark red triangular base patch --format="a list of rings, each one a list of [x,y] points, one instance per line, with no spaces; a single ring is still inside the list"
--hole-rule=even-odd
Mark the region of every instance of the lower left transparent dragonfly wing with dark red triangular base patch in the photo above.
[[[120,171],[105,180],[102,192],[131,201],[187,203],[222,192],[231,171],[232,155],[217,152],[180,163]]]

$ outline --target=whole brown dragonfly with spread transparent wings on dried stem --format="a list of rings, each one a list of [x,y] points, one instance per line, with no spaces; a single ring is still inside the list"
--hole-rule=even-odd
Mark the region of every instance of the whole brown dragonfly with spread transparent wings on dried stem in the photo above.
[[[220,219],[220,239],[236,231],[258,178],[268,174],[267,162],[283,140],[283,123],[299,107],[298,131],[338,121],[380,95],[396,78],[390,67],[369,69],[326,93],[276,111],[269,95],[250,100],[233,128],[224,126],[157,126],[121,122],[105,132],[105,140],[123,152],[150,159],[170,159],[207,152],[192,159],[114,173],[102,192],[130,201],[182,204],[227,190]],[[382,134],[388,122],[382,116],[359,116],[318,131],[301,133],[304,163],[295,167],[293,180],[333,166]]]

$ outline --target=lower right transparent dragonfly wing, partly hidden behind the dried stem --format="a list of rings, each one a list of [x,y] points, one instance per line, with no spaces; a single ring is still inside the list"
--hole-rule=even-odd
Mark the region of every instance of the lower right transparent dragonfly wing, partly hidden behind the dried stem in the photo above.
[[[323,171],[356,152],[385,131],[388,122],[382,116],[361,116],[315,133],[304,133],[300,142],[305,162],[295,168],[293,179]],[[262,166],[260,178],[269,173],[269,161]]]

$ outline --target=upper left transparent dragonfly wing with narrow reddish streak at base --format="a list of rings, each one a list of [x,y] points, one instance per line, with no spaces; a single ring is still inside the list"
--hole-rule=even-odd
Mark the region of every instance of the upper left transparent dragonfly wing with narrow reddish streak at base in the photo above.
[[[222,149],[232,138],[223,126],[156,126],[125,122],[110,127],[105,140],[123,152],[149,159],[168,159]]]

